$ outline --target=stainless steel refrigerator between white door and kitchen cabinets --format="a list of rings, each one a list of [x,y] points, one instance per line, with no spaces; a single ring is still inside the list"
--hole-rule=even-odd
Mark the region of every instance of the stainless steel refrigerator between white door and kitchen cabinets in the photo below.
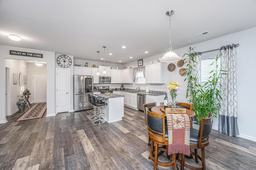
[[[93,94],[93,77],[74,76],[74,111],[93,109],[88,94]]]

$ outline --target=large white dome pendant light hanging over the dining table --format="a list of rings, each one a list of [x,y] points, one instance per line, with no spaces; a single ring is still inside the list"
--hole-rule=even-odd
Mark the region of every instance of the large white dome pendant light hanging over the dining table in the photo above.
[[[170,46],[169,46],[169,52],[165,53],[164,56],[161,59],[159,59],[159,61],[162,61],[162,62],[174,62],[182,59],[176,53],[172,52],[172,44],[171,44],[171,15],[172,14],[174,14],[174,10],[170,10],[166,12],[166,15],[170,17],[170,28],[169,28]]]

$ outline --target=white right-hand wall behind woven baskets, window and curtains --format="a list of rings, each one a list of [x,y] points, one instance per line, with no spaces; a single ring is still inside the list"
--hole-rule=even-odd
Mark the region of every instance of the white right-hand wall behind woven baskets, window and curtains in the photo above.
[[[206,35],[207,36],[207,35]],[[200,37],[199,37],[200,38]],[[187,53],[189,47],[195,47],[196,52],[209,51],[212,49],[218,49],[222,46],[229,44],[240,44],[237,47],[237,91],[238,91],[238,129],[239,137],[250,139],[256,141],[256,123],[255,114],[253,107],[256,103],[256,79],[253,77],[253,68],[256,63],[255,56],[255,38],[256,38],[256,27],[252,29],[247,29],[237,33],[232,33],[223,37],[205,41],[202,43],[193,44],[184,48],[174,50],[179,56],[183,56]],[[156,59],[162,57],[164,54],[155,55],[143,59],[143,63],[148,63],[148,61],[156,62]],[[133,68],[138,66],[136,62],[128,63],[127,66],[132,66]],[[184,78],[180,76],[179,67],[177,62],[174,62],[176,69],[169,72],[167,69],[169,63],[166,64],[166,84],[172,80],[176,80],[181,85],[180,93],[178,94],[178,100],[180,102],[186,102],[186,82]],[[185,64],[184,64],[185,66]],[[166,91],[164,85],[152,85],[150,84],[150,90],[159,89],[160,91]],[[125,85],[134,86],[134,84]],[[170,96],[169,96],[170,97]],[[218,129],[218,119],[214,119],[214,129]]]

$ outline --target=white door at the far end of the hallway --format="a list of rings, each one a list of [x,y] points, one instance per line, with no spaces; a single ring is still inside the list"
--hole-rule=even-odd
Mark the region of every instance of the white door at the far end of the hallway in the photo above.
[[[47,74],[33,74],[33,103],[46,102]]]

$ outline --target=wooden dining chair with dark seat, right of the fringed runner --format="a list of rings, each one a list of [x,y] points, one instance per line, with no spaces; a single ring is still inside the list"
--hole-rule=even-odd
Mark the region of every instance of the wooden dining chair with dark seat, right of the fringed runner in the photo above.
[[[196,163],[198,163],[198,159],[201,160],[202,166],[192,166],[184,162],[184,160],[177,155],[177,159],[181,164],[181,170],[183,170],[184,167],[190,170],[206,170],[204,148],[210,143],[209,136],[212,131],[212,123],[213,113],[210,112],[208,118],[201,119],[199,130],[190,128],[190,149],[194,149],[194,152],[190,153],[194,156]],[[201,156],[198,154],[198,149],[201,149]]]

